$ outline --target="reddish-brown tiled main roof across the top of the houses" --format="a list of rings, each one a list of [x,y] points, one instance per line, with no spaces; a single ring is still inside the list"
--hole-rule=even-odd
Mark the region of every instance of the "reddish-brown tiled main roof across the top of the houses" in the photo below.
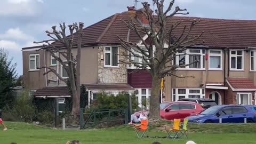
[[[119,44],[117,35],[126,39],[128,28],[123,21],[129,21],[135,18],[135,11],[126,11],[116,13],[110,17],[103,19],[93,25],[84,28],[82,45],[97,45],[97,44]],[[226,20],[226,19],[210,19],[196,17],[173,17],[167,22],[170,27],[171,23],[179,20],[200,19],[190,36],[196,36],[204,31],[198,41],[205,43],[203,45],[215,48],[247,48],[256,46],[256,20]],[[179,37],[183,26],[188,23],[183,23],[173,31],[175,37]],[[130,33],[130,41],[138,42],[139,38],[133,30]],[[74,35],[74,45],[77,41],[77,36]],[[60,43],[54,42],[55,46],[61,46]],[[23,48],[24,49],[24,48]],[[26,49],[26,48],[25,48]]]

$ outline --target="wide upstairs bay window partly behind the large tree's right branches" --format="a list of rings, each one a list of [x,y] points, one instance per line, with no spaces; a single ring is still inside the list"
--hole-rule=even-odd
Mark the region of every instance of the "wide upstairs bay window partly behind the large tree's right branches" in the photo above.
[[[181,67],[186,69],[205,69],[205,50],[187,49],[186,51],[177,53],[174,64],[177,66],[191,64],[189,66]]]

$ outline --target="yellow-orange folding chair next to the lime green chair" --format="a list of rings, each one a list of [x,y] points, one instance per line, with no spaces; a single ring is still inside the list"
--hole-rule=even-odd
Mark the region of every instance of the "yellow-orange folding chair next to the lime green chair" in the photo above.
[[[168,133],[169,138],[172,139],[179,139],[179,132],[180,132],[180,119],[173,120],[173,127],[172,129],[167,129],[167,126],[164,125],[166,132]],[[174,136],[172,136],[172,133]]]

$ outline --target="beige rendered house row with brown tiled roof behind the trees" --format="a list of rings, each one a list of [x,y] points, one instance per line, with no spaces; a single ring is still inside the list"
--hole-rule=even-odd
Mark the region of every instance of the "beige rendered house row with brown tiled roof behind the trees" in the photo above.
[[[146,70],[131,73],[132,65],[119,63],[127,60],[119,53],[127,53],[118,41],[117,35],[140,43],[134,31],[129,30],[123,21],[131,18],[139,25],[148,25],[143,9],[116,13],[93,25],[84,28],[82,39],[81,84],[89,92],[90,99],[97,93],[106,91],[118,93],[126,91],[137,93],[138,101],[149,98],[151,93],[151,76]],[[178,76],[195,76],[195,78],[164,78],[164,101],[176,101],[181,98],[211,98],[219,105],[244,104],[254,105],[256,91],[256,21],[225,20],[193,17],[174,17],[168,25],[178,20],[200,19],[191,31],[197,35],[204,31],[198,40],[205,43],[188,47],[183,55],[177,53],[173,65],[183,65],[200,60],[188,67],[175,70]],[[181,28],[174,31],[179,36]],[[76,36],[75,36],[76,41]],[[145,37],[147,41],[147,38]],[[54,43],[60,49],[62,45]],[[67,78],[66,71],[53,59],[48,51],[40,50],[40,46],[23,47],[23,75],[25,85],[35,91],[35,97],[62,98],[70,97],[67,86],[54,74],[45,73],[45,69],[37,67],[50,66]],[[73,54],[76,55],[76,46]],[[129,53],[127,53],[129,54]],[[140,61],[140,59],[134,59]]]

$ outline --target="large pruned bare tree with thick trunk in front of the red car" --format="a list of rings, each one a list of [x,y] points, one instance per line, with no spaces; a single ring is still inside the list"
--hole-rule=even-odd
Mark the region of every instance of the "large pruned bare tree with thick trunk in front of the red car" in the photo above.
[[[177,14],[188,14],[186,9],[180,9],[180,7],[175,7],[172,11],[174,0],[170,2],[167,9],[164,10],[164,0],[153,0],[156,4],[157,9],[155,10],[156,15],[153,15],[153,11],[149,8],[147,2],[142,3],[144,11],[142,11],[149,25],[140,25],[136,20],[132,19],[130,21],[124,21],[129,28],[129,31],[133,30],[142,42],[140,47],[137,43],[130,42],[127,39],[123,39],[118,36],[121,45],[131,54],[120,54],[126,57],[127,61],[120,61],[121,63],[126,63],[133,65],[138,69],[146,69],[152,76],[152,88],[150,97],[150,115],[151,119],[159,119],[159,93],[161,90],[161,79],[165,76],[176,76],[180,78],[187,78],[193,76],[178,76],[173,73],[177,68],[187,67],[193,63],[199,62],[195,60],[190,63],[185,63],[183,65],[172,65],[172,61],[175,59],[178,52],[185,51],[187,47],[195,46],[203,43],[196,41],[202,34],[199,33],[195,36],[190,36],[191,30],[193,30],[196,23],[199,20],[179,20],[171,21],[172,18]],[[167,23],[171,22],[171,25]],[[170,23],[169,22],[169,23]],[[174,34],[176,28],[182,28],[179,32],[180,34]],[[178,30],[179,31],[179,30]],[[145,36],[148,37],[149,41],[145,41]],[[186,55],[187,53],[183,53]],[[134,61],[134,58],[141,59],[141,62]]]

